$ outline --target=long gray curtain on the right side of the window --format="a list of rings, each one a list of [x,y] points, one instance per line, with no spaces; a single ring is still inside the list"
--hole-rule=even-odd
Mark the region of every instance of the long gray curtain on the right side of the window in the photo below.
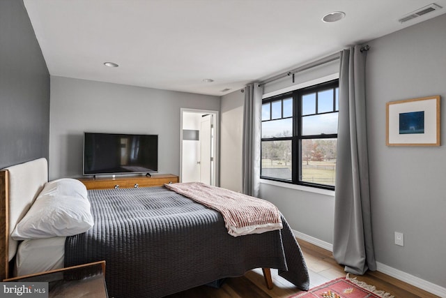
[[[376,270],[371,237],[365,59],[360,46],[341,52],[334,193],[333,256],[345,271]]]

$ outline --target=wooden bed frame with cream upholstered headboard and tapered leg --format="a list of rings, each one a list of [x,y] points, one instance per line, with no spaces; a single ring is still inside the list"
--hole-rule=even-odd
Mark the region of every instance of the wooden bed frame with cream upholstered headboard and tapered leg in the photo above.
[[[36,165],[37,161],[37,165]],[[0,222],[1,222],[1,230],[0,230],[0,281],[3,281],[3,279],[11,278],[13,277],[10,274],[10,249],[11,249],[11,243],[10,242],[17,242],[15,240],[10,239],[10,233],[12,232],[11,229],[15,227],[17,222],[19,222],[24,214],[26,214],[26,211],[28,211],[30,205],[32,202],[36,199],[38,193],[40,193],[43,184],[45,181],[47,181],[47,161],[45,158],[39,158],[35,161],[30,161],[27,163],[22,163],[23,167],[21,166],[20,174],[26,175],[26,184],[27,182],[31,182],[31,191],[26,191],[26,197],[24,198],[23,202],[20,202],[18,206],[18,211],[15,210],[15,214],[11,214],[10,208],[10,200],[11,200],[11,191],[10,191],[10,185],[11,185],[11,177],[10,170],[8,168],[4,170],[0,170]],[[26,165],[31,165],[31,167],[34,167],[33,170],[36,170],[39,174],[39,172],[45,172],[42,176],[46,177],[33,177],[33,170],[28,170]],[[13,166],[15,167],[15,166]],[[43,167],[46,167],[43,169]],[[38,176],[34,175],[34,176]],[[28,176],[29,175],[29,176]],[[17,183],[15,182],[15,187],[17,188]],[[18,185],[18,189],[22,191],[22,188],[26,188],[25,186]],[[19,191],[17,191],[19,192]],[[20,200],[22,201],[22,193],[18,195],[20,197]],[[17,209],[17,206],[15,206],[15,209]],[[17,213],[19,214],[17,216]],[[15,217],[15,218],[13,218]],[[11,222],[13,220],[13,222]],[[17,247],[13,245],[13,249],[17,250]],[[15,255],[15,253],[14,253]],[[263,277],[265,278],[266,286],[268,289],[272,289],[272,278],[271,278],[271,271],[270,268],[262,268],[263,271]]]

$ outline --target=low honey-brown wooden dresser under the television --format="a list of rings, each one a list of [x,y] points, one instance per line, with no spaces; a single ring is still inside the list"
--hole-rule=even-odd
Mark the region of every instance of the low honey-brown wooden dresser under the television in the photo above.
[[[178,183],[178,176],[172,174],[156,174],[153,177],[130,176],[116,178],[82,178],[79,179],[87,189],[107,188],[137,188],[163,186],[169,183]]]

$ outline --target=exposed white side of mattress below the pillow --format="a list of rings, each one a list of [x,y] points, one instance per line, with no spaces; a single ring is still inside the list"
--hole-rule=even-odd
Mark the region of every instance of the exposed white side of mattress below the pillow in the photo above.
[[[14,275],[24,276],[63,268],[66,237],[26,239],[15,258]]]

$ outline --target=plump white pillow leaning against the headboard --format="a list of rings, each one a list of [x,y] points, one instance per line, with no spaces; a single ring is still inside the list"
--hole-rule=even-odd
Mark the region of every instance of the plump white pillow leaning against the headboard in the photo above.
[[[15,240],[72,236],[93,227],[91,205],[84,184],[63,178],[45,184],[11,237]]]

